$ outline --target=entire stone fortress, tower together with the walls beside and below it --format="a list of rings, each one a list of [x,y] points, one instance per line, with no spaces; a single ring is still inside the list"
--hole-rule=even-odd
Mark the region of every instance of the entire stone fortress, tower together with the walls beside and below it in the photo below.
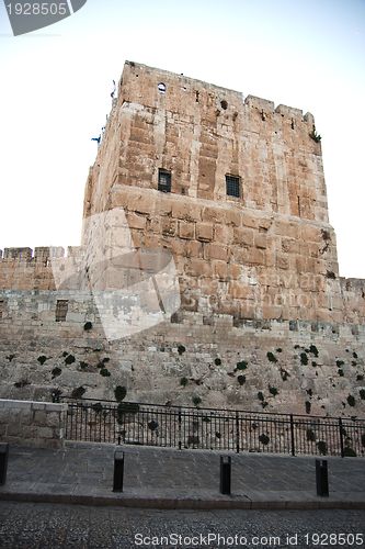
[[[310,113],[127,61],[83,208],[80,247],[0,255],[0,396],[122,385],[140,401],[364,415],[365,280],[339,276]],[[156,249],[181,306],[109,340],[115,304],[96,307],[98,292],[135,281],[126,251]],[[66,256],[70,274],[109,260],[78,287],[55,281]]]

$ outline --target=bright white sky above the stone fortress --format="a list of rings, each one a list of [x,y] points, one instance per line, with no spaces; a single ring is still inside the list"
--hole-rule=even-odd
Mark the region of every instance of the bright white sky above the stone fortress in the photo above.
[[[310,111],[340,273],[365,278],[364,0],[88,0],[18,37],[1,2],[1,249],[79,244],[91,137],[126,59]]]

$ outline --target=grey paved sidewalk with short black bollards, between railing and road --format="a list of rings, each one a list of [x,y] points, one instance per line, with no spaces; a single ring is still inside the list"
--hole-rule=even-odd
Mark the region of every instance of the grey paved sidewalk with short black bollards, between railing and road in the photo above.
[[[10,447],[0,500],[156,508],[365,508],[365,460],[327,458],[329,497],[316,495],[312,457],[124,446],[124,491],[114,493],[113,445]],[[229,495],[219,493],[219,456],[232,458]]]

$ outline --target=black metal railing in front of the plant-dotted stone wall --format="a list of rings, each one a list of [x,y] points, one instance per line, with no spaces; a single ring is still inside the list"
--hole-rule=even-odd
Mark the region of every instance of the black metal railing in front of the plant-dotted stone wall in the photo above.
[[[65,401],[68,440],[365,457],[365,419],[87,399]]]

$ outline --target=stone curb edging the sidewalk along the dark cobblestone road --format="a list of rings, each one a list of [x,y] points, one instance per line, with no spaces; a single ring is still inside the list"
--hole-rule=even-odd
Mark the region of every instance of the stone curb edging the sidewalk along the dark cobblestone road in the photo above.
[[[333,500],[312,501],[250,501],[250,500],[193,500],[168,497],[130,497],[111,494],[110,496],[49,494],[49,493],[11,493],[0,492],[0,501],[23,503],[58,503],[67,505],[118,506],[157,509],[365,509],[365,501],[346,502]]]

